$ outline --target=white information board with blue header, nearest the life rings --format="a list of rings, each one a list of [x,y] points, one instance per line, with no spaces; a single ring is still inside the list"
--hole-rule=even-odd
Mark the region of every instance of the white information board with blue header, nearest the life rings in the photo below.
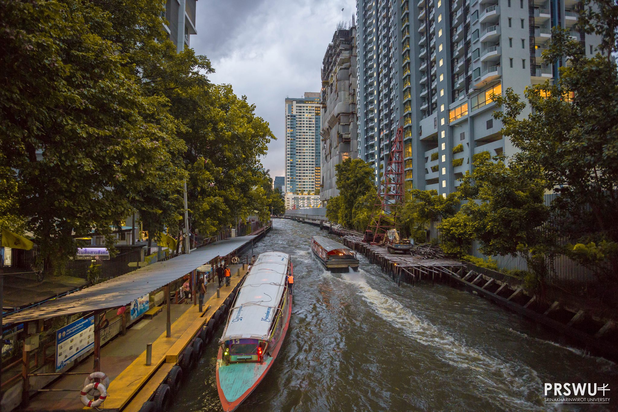
[[[95,346],[95,316],[61,327],[56,331],[56,372]]]

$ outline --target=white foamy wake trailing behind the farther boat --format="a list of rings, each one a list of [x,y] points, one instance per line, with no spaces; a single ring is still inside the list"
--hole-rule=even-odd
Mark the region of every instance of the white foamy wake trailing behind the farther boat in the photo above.
[[[447,332],[420,319],[398,301],[372,288],[363,276],[365,273],[360,269],[356,273],[343,274],[341,280],[356,285],[363,300],[378,316],[418,343],[434,348],[439,359],[456,368],[472,371],[478,379],[470,385],[470,390],[480,392],[504,410],[513,410],[514,407],[517,410],[544,410],[527,400],[536,398],[543,387],[536,371],[522,364],[501,361],[457,342]],[[337,279],[332,275],[330,277]]]

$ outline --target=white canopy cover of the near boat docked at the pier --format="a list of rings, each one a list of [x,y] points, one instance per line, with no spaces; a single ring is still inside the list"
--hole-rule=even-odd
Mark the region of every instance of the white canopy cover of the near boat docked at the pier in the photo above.
[[[286,287],[289,261],[290,255],[281,252],[258,256],[239,289],[221,342],[239,338],[268,339]]]

